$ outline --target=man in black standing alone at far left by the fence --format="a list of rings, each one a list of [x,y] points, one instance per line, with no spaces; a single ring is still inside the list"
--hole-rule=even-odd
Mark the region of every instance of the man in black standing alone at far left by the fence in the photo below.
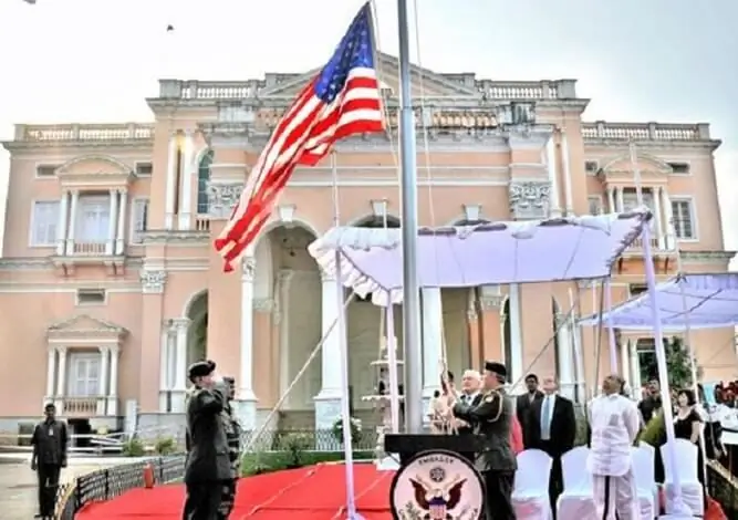
[[[33,429],[31,469],[39,477],[39,513],[35,518],[51,520],[54,516],[56,490],[62,468],[66,467],[66,424],[56,420],[56,407],[49,403],[45,418]]]

